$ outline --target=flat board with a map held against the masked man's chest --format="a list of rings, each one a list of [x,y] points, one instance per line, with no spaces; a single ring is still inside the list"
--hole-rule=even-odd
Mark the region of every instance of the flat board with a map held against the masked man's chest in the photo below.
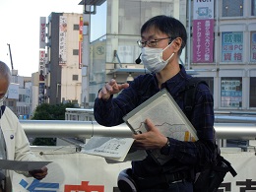
[[[186,142],[198,140],[195,128],[165,89],[137,106],[123,120],[134,134],[140,134],[147,131],[146,118],[151,119],[166,137]],[[150,154],[160,164],[170,159],[160,155],[160,150],[151,151]]]

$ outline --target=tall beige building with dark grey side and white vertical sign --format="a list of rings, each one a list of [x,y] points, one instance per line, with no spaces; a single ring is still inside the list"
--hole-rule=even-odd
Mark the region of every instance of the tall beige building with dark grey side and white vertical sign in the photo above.
[[[42,102],[81,103],[81,63],[79,44],[82,14],[51,13],[47,20],[47,42]],[[43,92],[42,92],[43,93]]]

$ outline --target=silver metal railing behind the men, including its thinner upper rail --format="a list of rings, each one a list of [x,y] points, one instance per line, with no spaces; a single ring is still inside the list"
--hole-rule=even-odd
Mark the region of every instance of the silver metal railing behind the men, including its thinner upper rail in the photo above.
[[[125,124],[104,127],[96,123],[94,109],[66,108],[66,120],[20,120],[28,136],[81,138],[132,137],[130,128]],[[239,115],[239,116],[238,116]],[[217,111],[214,127],[222,147],[226,140],[255,140],[256,113]]]

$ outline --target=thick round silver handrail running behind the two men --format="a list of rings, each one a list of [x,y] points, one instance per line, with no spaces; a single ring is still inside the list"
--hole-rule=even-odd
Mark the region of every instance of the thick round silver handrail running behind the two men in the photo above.
[[[226,120],[226,119],[225,119]],[[96,121],[67,120],[20,120],[27,135],[36,137],[79,137],[90,139],[93,136],[131,137],[126,124],[104,127]],[[218,139],[255,140],[255,123],[215,123]],[[256,120],[254,121],[256,122]]]

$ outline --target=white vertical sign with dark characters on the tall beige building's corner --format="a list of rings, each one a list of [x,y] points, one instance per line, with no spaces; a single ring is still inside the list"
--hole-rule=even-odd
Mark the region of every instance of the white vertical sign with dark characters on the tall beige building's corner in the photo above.
[[[67,17],[59,17],[59,65],[67,63],[67,47],[66,47],[66,35],[67,35]]]

